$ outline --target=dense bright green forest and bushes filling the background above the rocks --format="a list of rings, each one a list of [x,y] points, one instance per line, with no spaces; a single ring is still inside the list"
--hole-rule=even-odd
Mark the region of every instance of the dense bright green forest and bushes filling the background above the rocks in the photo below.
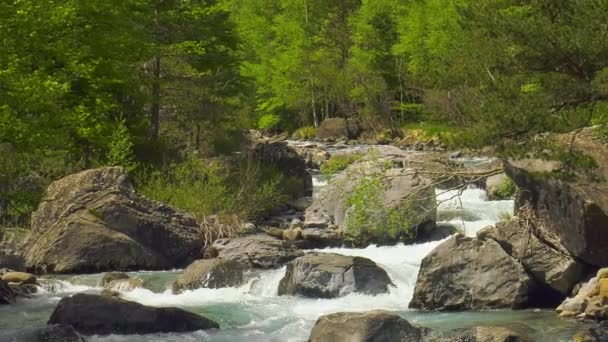
[[[608,0],[4,0],[0,226],[28,227],[52,180],[106,165],[198,217],[255,219],[290,180],[210,162],[249,129],[314,139],[339,117],[502,153],[544,132],[608,138],[606,13]]]

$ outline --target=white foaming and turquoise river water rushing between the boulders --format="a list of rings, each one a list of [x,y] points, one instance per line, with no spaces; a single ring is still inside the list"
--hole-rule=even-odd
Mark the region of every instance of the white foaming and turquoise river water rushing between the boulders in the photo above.
[[[325,185],[316,178],[317,187]],[[457,196],[460,195],[460,196]],[[512,201],[486,200],[485,192],[470,188],[461,194],[437,190],[438,221],[453,224],[469,236],[513,213]],[[144,280],[143,289],[123,292],[123,297],[145,305],[177,306],[203,314],[220,323],[217,331],[186,334],[130,336],[92,336],[91,341],[306,341],[315,320],[339,311],[386,309],[397,312],[412,322],[439,330],[464,328],[479,324],[524,322],[538,333],[538,341],[567,341],[572,324],[555,318],[549,311],[488,311],[464,313],[423,313],[408,310],[422,259],[441,241],[418,245],[390,247],[369,246],[365,249],[332,248],[324,252],[357,255],[374,260],[383,267],[395,284],[387,294],[368,296],[351,294],[337,299],[306,299],[278,296],[278,283],[285,268],[260,271],[237,288],[198,289],[173,295],[169,290],[179,271],[134,272]],[[0,330],[42,325],[48,320],[61,297],[78,292],[99,292],[101,275],[62,276],[52,290],[41,290],[32,299],[0,307]],[[3,341],[0,332],[0,341]],[[7,335],[5,335],[7,336]],[[5,337],[6,339],[6,337]]]

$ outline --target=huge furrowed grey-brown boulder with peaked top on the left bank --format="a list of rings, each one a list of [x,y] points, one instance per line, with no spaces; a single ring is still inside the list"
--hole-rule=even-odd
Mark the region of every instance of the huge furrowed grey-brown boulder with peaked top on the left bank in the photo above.
[[[201,245],[192,217],[137,195],[125,170],[106,167],[49,186],[24,256],[42,273],[151,270],[187,265]]]

